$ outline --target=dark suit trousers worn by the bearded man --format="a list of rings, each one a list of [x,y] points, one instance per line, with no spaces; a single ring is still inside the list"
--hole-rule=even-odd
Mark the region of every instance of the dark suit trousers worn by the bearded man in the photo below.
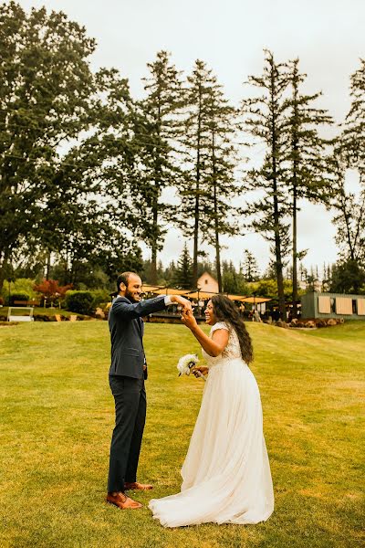
[[[141,441],[146,421],[144,379],[110,376],[115,401],[115,427],[110,445],[108,492],[124,491],[124,481],[137,480]]]

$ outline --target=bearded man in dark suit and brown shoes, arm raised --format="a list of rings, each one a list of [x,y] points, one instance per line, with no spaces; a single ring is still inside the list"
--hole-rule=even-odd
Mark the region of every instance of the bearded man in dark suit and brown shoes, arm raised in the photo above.
[[[147,364],[142,336],[142,316],[164,310],[172,303],[191,311],[189,300],[180,295],[141,301],[142,282],[135,272],[123,272],[117,279],[118,297],[109,313],[111,339],[110,389],[115,400],[115,427],[110,446],[107,501],[120,509],[141,508],[126,490],[150,490],[137,482],[141,440],[146,418]]]

